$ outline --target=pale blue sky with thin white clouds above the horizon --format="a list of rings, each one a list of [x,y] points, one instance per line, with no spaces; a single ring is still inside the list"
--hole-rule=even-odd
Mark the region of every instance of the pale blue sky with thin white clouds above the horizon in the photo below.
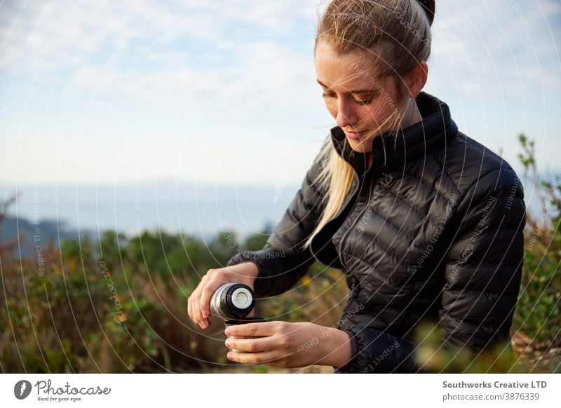
[[[334,125],[325,1],[1,1],[0,183],[299,184]],[[437,2],[424,90],[520,170],[561,168],[560,0]]]

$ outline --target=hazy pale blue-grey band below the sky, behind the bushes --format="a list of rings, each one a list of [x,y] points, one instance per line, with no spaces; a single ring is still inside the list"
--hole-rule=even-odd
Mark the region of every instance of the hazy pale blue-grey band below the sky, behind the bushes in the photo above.
[[[247,235],[261,231],[264,224],[276,224],[298,188],[280,179],[270,186],[169,180],[114,185],[20,184],[17,188],[0,184],[0,199],[17,193],[17,203],[8,209],[12,217],[17,214],[20,219],[39,218],[41,222],[61,219],[67,230],[88,230],[95,236],[107,230],[135,236],[145,229],[160,229],[202,237],[222,229]]]

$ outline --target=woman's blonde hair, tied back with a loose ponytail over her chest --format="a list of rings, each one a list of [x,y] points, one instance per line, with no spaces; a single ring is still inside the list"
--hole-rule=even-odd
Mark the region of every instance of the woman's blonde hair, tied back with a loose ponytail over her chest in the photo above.
[[[431,25],[435,0],[332,0],[319,18],[315,49],[325,41],[337,55],[360,52],[372,58],[372,72],[357,71],[353,76],[370,75],[372,79],[393,76],[398,103],[391,103],[391,114],[379,124],[379,131],[398,128],[407,102],[403,76],[431,54]],[[344,149],[346,149],[344,140]],[[337,153],[331,136],[323,143],[316,159],[321,171],[313,180],[323,191],[323,212],[311,240],[337,214],[353,182],[354,170]]]

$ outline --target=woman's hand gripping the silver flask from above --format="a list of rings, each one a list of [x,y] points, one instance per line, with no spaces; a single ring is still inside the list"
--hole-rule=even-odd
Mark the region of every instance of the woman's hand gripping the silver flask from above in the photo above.
[[[210,298],[215,290],[224,283],[243,283],[253,290],[258,273],[259,269],[253,262],[243,262],[243,264],[227,266],[226,268],[209,269],[187,299],[189,317],[204,329],[208,326]]]

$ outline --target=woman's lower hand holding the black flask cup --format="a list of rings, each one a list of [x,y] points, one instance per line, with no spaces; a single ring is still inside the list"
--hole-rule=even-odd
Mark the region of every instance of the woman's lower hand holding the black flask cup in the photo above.
[[[227,339],[229,360],[273,367],[331,365],[339,367],[351,358],[351,341],[346,332],[311,322],[260,322],[230,326],[228,336],[260,336],[257,339]]]

